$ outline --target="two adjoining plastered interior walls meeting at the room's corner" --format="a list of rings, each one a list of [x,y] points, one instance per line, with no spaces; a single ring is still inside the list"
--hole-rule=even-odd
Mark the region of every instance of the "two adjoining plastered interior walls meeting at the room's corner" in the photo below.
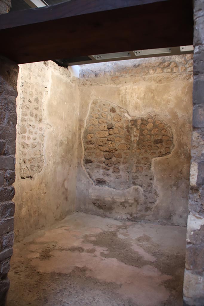
[[[20,65],[15,231],[78,210],[185,226],[192,56]]]

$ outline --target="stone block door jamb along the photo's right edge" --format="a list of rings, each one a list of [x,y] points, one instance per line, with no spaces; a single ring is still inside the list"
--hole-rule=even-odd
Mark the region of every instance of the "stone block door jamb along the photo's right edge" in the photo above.
[[[193,132],[184,305],[204,305],[204,2],[194,0]]]

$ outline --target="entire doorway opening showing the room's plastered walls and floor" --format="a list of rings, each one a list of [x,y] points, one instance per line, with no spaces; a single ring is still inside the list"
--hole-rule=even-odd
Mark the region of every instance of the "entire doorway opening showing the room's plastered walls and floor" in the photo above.
[[[20,65],[9,305],[182,305],[192,54]]]

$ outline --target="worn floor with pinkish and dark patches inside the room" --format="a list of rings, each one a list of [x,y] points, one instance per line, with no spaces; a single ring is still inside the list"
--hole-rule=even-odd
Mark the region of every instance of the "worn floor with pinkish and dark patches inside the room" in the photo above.
[[[181,306],[186,228],[75,213],[15,244],[8,306]]]

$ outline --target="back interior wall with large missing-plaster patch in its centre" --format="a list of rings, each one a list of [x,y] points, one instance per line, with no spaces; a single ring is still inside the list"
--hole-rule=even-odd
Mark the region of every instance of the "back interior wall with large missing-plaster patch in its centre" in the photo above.
[[[80,69],[78,210],[186,225],[192,55]]]

